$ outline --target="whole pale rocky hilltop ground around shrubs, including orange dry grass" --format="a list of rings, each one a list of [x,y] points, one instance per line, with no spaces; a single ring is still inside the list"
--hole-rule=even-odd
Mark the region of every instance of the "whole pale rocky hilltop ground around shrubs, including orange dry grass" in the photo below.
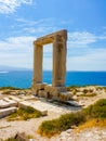
[[[55,134],[51,138],[41,137],[38,133],[38,128],[44,120],[56,119],[63,114],[70,112],[76,113],[94,104],[101,99],[106,100],[106,88],[100,86],[87,86],[87,87],[68,87],[68,91],[71,94],[71,101],[76,102],[80,106],[69,106],[58,103],[50,103],[42,99],[37,99],[32,95],[30,89],[0,89],[0,100],[9,98],[17,103],[27,103],[35,105],[42,112],[47,112],[44,116],[40,118],[30,118],[27,120],[8,120],[8,117],[0,119],[0,139],[8,139],[14,137],[18,131],[25,132],[28,138],[35,139],[35,141],[105,141],[106,140],[106,124],[105,118],[103,125],[100,120],[91,120],[83,126],[72,126],[68,130],[63,130],[59,134]],[[5,99],[6,100],[6,99]]]

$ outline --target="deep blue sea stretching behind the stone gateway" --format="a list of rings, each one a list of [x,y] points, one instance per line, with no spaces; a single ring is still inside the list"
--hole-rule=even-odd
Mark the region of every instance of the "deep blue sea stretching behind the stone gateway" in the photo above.
[[[52,72],[43,72],[43,82],[52,84]],[[30,88],[32,70],[0,72],[0,87]],[[106,72],[67,72],[66,86],[106,86]]]

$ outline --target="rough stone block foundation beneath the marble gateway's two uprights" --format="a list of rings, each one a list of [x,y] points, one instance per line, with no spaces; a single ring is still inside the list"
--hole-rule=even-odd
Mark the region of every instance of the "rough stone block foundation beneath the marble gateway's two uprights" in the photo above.
[[[59,101],[71,100],[71,93],[65,87],[53,87],[51,85],[38,84],[35,86],[34,94],[39,98],[55,99]]]

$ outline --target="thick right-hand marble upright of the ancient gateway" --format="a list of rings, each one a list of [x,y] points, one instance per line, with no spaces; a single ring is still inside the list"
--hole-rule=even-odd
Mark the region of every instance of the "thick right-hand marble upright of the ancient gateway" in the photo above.
[[[65,86],[66,39],[55,36],[53,41],[53,87]]]

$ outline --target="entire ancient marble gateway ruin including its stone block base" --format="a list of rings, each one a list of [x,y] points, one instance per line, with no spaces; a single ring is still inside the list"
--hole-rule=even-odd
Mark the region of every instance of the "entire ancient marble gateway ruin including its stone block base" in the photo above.
[[[48,43],[53,43],[52,85],[42,81],[43,46]],[[34,93],[41,98],[68,101],[70,94],[65,87],[67,30],[59,30],[38,38],[34,41]]]

